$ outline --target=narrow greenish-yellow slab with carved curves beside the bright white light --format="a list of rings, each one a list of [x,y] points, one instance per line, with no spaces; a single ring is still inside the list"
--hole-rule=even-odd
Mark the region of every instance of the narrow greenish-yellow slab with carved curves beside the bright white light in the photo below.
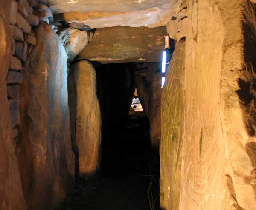
[[[177,43],[166,72],[161,101],[160,205],[179,209],[181,148],[184,132],[185,41]]]

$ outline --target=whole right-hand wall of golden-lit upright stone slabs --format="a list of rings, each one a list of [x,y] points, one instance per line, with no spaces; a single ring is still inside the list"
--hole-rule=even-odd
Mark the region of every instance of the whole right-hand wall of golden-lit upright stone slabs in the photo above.
[[[169,104],[177,113],[169,119],[162,112],[161,205],[166,210],[255,210],[256,5],[247,0],[188,3],[184,75],[172,73],[172,84],[163,88],[166,93],[176,84],[182,90],[175,92],[177,101],[163,94],[164,110]],[[172,62],[182,63],[182,51],[178,43]],[[164,129],[168,123],[177,124],[180,133]]]

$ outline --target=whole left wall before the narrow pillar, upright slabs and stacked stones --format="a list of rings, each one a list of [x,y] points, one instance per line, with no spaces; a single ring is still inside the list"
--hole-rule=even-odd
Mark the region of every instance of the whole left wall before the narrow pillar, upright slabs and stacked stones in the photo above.
[[[56,209],[74,185],[67,54],[49,26],[53,16],[44,1],[3,0],[0,14],[0,209]],[[47,33],[55,36],[55,49],[42,47]],[[42,54],[49,56],[44,71]],[[55,87],[42,84],[48,78]]]

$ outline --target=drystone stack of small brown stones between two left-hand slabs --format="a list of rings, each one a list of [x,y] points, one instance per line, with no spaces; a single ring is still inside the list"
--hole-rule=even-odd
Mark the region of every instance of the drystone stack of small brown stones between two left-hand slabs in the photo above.
[[[19,150],[20,85],[23,82],[23,65],[37,42],[32,27],[37,26],[40,20],[48,20],[47,18],[52,17],[52,14],[47,16],[42,4],[36,0],[29,2],[11,0],[9,4],[8,16],[12,39],[6,84],[14,128],[13,137],[17,137],[15,139],[16,149]]]

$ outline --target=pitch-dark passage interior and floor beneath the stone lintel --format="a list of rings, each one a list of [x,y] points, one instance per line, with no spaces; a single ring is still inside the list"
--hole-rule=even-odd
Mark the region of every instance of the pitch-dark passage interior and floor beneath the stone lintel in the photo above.
[[[151,148],[150,121],[145,114],[129,115],[142,65],[93,63],[102,117],[101,171],[97,179],[76,179],[65,209],[160,209],[160,158]]]

